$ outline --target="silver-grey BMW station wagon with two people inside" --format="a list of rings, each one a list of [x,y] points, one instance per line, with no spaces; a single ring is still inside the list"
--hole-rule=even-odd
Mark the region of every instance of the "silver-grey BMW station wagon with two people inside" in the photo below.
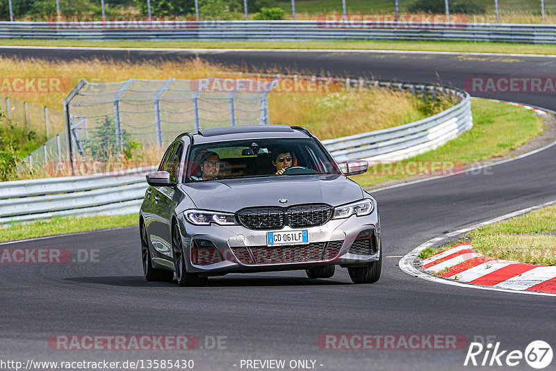
[[[329,278],[347,267],[374,283],[382,266],[377,203],[300,126],[202,129],[166,150],[140,208],[147,281],[206,285],[227,273],[305,270]]]

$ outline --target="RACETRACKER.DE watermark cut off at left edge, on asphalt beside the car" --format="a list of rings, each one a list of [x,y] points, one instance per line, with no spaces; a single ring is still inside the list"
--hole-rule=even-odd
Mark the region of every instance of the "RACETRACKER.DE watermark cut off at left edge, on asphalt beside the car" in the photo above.
[[[0,264],[67,264],[99,263],[99,249],[76,249],[58,247],[10,247],[0,249]]]

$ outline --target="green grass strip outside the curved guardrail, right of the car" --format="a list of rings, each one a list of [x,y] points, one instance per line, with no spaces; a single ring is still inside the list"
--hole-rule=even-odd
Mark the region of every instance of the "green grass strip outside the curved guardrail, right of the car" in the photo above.
[[[470,131],[425,154],[395,163],[379,163],[352,179],[361,186],[374,186],[408,176],[464,170],[468,164],[504,156],[542,132],[542,119],[532,110],[482,99],[473,99],[471,105]]]

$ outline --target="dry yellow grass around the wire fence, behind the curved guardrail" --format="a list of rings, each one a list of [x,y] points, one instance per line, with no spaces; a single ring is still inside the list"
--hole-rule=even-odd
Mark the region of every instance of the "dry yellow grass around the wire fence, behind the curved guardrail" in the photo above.
[[[244,78],[240,67],[224,67],[207,63],[199,58],[181,61],[142,61],[122,62],[114,60],[74,60],[47,61],[35,59],[3,58],[0,69],[4,77],[40,78],[56,77],[63,79],[60,91],[55,92],[3,92],[4,96],[19,101],[27,101],[39,106],[56,110],[63,109],[63,99],[81,79],[90,82],[113,82],[126,79],[202,79],[208,76],[228,76]],[[269,114],[271,124],[305,126],[318,138],[325,140],[344,135],[353,135],[398,126],[427,115],[432,115],[453,104],[443,100],[431,106],[412,94],[391,92],[382,88],[370,90],[349,90],[334,85],[331,89],[316,89],[311,92],[295,92],[275,89],[270,92]],[[40,113],[38,113],[40,115]],[[54,115],[51,114],[53,117]],[[21,120],[21,119],[19,119]],[[40,117],[38,118],[40,122]],[[50,119],[50,137],[63,130],[63,117]],[[44,122],[44,120],[43,120]],[[32,128],[31,128],[32,129]],[[145,148],[134,159],[145,160],[148,165],[158,163],[160,149]],[[125,163],[133,167],[122,156],[113,156],[108,163]],[[94,168],[95,166],[90,165]],[[98,166],[97,166],[98,167]],[[99,167],[104,168],[104,167]],[[95,171],[98,172],[98,171]],[[26,179],[42,176],[63,176],[67,172],[49,168],[21,170],[17,177]]]

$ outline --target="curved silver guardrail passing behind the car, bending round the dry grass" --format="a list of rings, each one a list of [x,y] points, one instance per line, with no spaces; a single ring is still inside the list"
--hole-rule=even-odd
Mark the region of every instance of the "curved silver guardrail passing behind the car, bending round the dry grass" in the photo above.
[[[259,75],[260,76],[260,75]],[[315,79],[313,76],[291,76]],[[328,78],[317,78],[328,79]],[[471,129],[470,97],[464,90],[437,85],[338,79],[350,88],[382,86],[407,90],[434,99],[452,94],[459,104],[441,113],[391,129],[324,140],[336,160],[367,158],[399,160],[432,149]],[[137,213],[145,196],[145,174],[140,168],[116,174],[67,176],[0,183],[0,225],[41,220],[54,215],[121,215]]]

